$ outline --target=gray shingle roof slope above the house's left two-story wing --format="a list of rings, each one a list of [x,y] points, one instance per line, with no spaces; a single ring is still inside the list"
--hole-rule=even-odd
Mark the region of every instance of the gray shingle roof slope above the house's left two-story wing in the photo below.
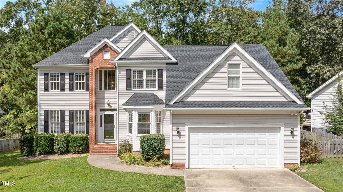
[[[125,25],[108,25],[91,35],[75,42],[63,50],[47,57],[33,66],[37,65],[82,65],[87,64],[87,58],[82,55],[91,49],[96,43],[102,39],[111,38],[117,32],[119,32]]]

